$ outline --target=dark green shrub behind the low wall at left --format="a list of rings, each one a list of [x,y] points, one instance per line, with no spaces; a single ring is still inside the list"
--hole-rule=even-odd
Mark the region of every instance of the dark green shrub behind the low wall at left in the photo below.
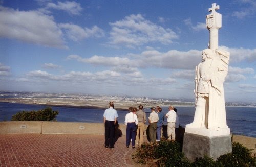
[[[58,111],[53,111],[47,107],[39,111],[22,111],[12,116],[11,121],[56,121]]]

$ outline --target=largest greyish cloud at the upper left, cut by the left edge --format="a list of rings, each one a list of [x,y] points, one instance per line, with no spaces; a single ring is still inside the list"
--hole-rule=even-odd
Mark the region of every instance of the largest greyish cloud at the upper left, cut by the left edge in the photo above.
[[[53,17],[37,11],[19,11],[0,6],[0,37],[66,48]]]

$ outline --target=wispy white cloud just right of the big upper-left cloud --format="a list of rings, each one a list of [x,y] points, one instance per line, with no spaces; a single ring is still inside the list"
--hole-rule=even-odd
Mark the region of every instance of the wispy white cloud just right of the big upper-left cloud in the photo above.
[[[80,41],[85,38],[89,38],[92,36],[95,37],[103,37],[104,31],[97,26],[93,26],[91,29],[89,28],[81,28],[77,25],[72,25],[70,23],[60,23],[59,28],[64,29],[65,33],[67,34],[68,38],[74,41]]]

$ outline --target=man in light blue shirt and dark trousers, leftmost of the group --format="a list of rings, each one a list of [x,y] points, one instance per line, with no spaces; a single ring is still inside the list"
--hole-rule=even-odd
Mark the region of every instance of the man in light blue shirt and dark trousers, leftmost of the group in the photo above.
[[[114,103],[109,103],[109,108],[105,110],[104,114],[105,124],[105,148],[114,148],[115,125],[117,122],[117,111],[114,109]]]

